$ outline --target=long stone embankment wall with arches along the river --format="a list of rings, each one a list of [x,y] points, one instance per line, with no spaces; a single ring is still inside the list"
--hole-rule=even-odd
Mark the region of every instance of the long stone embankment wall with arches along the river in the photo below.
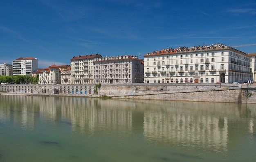
[[[256,103],[256,85],[244,84],[101,84],[101,87],[97,89],[98,94],[96,94],[95,84],[7,84],[0,86],[0,91],[21,92],[23,95],[40,94],[45,89],[49,95],[76,97],[107,95],[124,99]],[[56,89],[60,94],[54,94]]]

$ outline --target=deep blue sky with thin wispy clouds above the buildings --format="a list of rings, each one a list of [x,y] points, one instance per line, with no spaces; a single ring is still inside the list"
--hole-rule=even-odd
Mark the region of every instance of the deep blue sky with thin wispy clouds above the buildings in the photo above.
[[[217,43],[256,44],[255,0],[0,0],[0,64],[34,57],[45,68]]]

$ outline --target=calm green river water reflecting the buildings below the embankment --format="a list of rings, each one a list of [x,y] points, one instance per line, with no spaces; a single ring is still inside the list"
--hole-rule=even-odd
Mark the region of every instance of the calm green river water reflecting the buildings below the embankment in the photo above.
[[[0,95],[0,162],[256,159],[255,104]]]

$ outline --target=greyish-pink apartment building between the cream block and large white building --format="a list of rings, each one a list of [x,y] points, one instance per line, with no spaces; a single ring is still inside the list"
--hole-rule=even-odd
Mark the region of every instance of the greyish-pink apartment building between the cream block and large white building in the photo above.
[[[124,55],[94,58],[94,83],[143,83],[144,61]]]

